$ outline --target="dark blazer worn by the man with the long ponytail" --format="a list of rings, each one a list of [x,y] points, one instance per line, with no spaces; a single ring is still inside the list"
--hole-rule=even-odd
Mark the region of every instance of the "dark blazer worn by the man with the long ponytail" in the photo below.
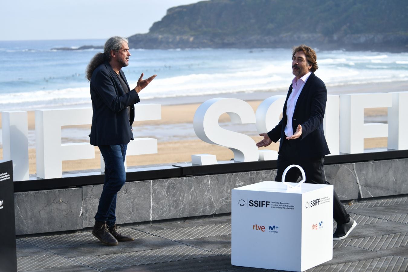
[[[122,70],[119,73],[129,88]],[[90,90],[93,110],[90,144],[93,146],[127,144],[133,140],[131,130],[135,116],[133,104],[140,102],[136,91],[126,93],[123,90],[109,62],[104,62],[93,71]],[[126,109],[128,106],[131,106],[130,118]]]

